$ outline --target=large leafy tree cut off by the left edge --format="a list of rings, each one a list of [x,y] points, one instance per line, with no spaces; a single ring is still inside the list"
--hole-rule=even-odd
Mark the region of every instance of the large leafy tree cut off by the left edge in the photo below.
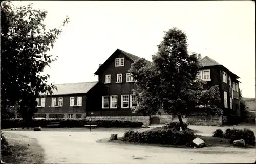
[[[47,76],[40,75],[56,60],[49,51],[62,32],[62,27],[46,30],[43,23],[47,11],[34,9],[32,4],[15,7],[10,1],[1,3],[1,93],[2,118],[8,118],[10,108],[30,119],[36,112],[39,93],[57,89],[48,85]]]

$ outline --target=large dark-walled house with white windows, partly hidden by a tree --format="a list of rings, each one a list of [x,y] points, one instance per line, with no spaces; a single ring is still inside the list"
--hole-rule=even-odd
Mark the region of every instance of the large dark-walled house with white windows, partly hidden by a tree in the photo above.
[[[240,115],[239,77],[208,56],[198,55],[198,58],[202,65],[198,78],[207,81],[209,86],[219,85],[218,107],[232,109]],[[52,96],[37,99],[38,112],[34,116],[84,118],[92,112],[93,116],[140,116],[131,111],[137,100],[132,92],[134,80],[128,73],[137,59],[138,56],[117,49],[94,73],[98,75],[98,82],[56,85],[58,91],[54,90]]]

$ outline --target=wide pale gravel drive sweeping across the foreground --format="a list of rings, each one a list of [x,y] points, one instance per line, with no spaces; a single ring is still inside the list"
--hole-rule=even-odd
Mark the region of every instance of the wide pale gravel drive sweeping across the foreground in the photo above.
[[[165,148],[96,142],[120,131],[6,131],[36,138],[45,163],[252,163],[255,149],[207,147]]]

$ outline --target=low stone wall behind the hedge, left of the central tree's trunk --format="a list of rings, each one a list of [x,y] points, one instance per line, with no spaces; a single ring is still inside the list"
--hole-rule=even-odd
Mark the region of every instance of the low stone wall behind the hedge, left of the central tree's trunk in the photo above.
[[[89,117],[87,117],[89,119]],[[123,120],[123,121],[140,121],[143,125],[150,124],[149,116],[92,116],[92,120]]]

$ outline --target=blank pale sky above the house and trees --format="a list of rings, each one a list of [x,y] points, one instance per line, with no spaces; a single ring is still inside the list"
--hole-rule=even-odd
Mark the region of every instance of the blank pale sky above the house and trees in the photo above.
[[[177,27],[188,51],[209,56],[238,75],[244,97],[255,97],[253,1],[16,1],[45,9],[48,29],[63,28],[46,68],[54,84],[98,81],[99,64],[117,49],[151,60],[164,31]]]

